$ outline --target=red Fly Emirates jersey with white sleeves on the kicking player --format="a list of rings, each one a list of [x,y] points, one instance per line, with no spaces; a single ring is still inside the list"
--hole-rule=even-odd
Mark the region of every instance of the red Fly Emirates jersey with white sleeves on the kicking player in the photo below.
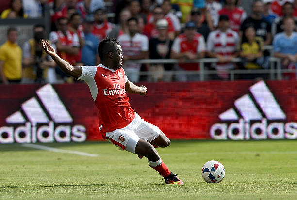
[[[135,112],[126,95],[125,83],[128,78],[123,68],[113,70],[99,64],[82,66],[82,75],[99,111],[100,132],[106,139],[106,132],[127,126],[135,117]]]

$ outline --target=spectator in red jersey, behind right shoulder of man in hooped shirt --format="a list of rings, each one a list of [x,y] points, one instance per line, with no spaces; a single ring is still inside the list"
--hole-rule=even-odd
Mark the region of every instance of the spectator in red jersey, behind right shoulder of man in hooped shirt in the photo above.
[[[227,15],[230,20],[230,28],[233,31],[238,32],[240,29],[240,25],[243,20],[246,19],[246,12],[236,6],[236,0],[225,0],[225,6],[219,10],[219,15]]]

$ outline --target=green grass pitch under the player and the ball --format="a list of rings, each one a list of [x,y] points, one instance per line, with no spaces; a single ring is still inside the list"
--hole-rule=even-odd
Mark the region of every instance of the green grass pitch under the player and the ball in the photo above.
[[[1,200],[296,200],[297,141],[173,141],[158,152],[184,185],[165,185],[147,159],[107,142],[40,144],[98,154],[0,145]],[[201,167],[220,161],[226,176],[207,184]]]

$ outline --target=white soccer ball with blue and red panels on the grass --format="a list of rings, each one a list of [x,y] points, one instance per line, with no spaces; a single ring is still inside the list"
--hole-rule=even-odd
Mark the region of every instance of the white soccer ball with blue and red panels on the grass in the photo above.
[[[207,183],[219,183],[225,177],[225,168],[218,161],[207,161],[202,167],[202,177]]]

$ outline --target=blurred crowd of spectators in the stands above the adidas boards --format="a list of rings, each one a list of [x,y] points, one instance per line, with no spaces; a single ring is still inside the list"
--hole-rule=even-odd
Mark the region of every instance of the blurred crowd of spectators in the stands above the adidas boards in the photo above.
[[[118,38],[123,67],[132,82],[199,81],[199,63],[208,79],[229,80],[231,69],[269,69],[269,58],[281,58],[283,69],[296,69],[297,0],[0,0],[1,19],[42,18],[49,9],[51,31],[33,26],[33,38],[20,48],[18,30],[9,27],[0,44],[0,79],[10,83],[76,82],[56,66],[41,48],[45,38],[72,65],[97,65],[98,43]],[[248,11],[248,13],[247,13]],[[273,51],[265,46],[273,46]],[[273,53],[272,53],[273,52]],[[241,62],[232,62],[233,58]],[[139,64],[139,59],[178,59],[178,63]],[[148,76],[141,76],[148,71]],[[268,78],[248,73],[237,79]],[[284,79],[296,79],[286,73]]]

